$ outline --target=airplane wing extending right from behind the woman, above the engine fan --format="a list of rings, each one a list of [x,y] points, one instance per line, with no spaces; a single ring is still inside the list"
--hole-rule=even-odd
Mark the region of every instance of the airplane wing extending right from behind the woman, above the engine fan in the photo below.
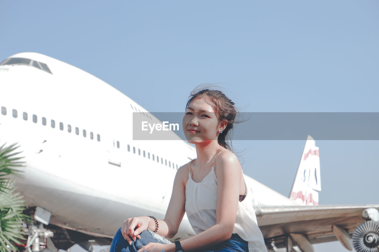
[[[366,208],[379,205],[254,205],[258,226],[267,244],[286,247],[289,234],[299,233],[311,244],[336,241],[332,226],[345,229],[351,236],[364,219]]]

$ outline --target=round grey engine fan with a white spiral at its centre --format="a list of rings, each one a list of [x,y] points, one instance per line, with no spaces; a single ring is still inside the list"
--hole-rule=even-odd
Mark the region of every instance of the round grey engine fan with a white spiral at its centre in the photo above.
[[[379,252],[379,222],[360,224],[353,233],[352,242],[357,252]]]

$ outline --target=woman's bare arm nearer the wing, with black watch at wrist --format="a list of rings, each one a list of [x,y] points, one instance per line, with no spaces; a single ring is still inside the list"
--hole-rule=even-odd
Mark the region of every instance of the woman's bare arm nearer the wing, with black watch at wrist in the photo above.
[[[197,251],[225,241],[232,236],[238,208],[241,165],[233,153],[221,155],[216,162],[217,207],[216,225],[191,238],[181,240],[183,251]],[[171,202],[170,202],[171,203]],[[148,244],[143,249],[149,252],[165,250],[174,252],[174,244]],[[155,247],[156,246],[156,247]],[[160,250],[159,250],[160,249]],[[142,249],[141,249],[142,251]]]

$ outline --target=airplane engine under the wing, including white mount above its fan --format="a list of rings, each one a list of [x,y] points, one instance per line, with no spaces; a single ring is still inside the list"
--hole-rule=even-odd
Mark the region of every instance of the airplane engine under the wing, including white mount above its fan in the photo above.
[[[357,252],[379,252],[379,211],[376,208],[363,210],[363,219],[353,233],[352,242]]]

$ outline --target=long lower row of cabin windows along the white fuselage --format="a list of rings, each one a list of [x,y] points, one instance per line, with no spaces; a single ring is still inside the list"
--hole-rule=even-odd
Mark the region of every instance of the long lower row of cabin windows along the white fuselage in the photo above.
[[[1,107],[1,114],[2,115],[6,115],[7,114],[6,107]],[[18,112],[17,112],[16,109],[12,109],[12,116],[14,118],[18,117]],[[25,121],[28,120],[28,113],[27,112],[23,112],[22,113],[22,119],[25,120]],[[37,115],[34,115],[34,114],[32,115],[32,121],[33,121],[33,123],[37,123],[37,121],[38,121],[37,120]],[[44,125],[44,126],[47,125],[47,120],[46,120],[45,117],[42,117],[42,125]],[[51,126],[51,128],[55,128],[55,120],[51,120],[50,121],[50,126]],[[63,125],[62,122],[59,123],[59,129],[61,131],[64,130],[64,125]],[[70,124],[67,124],[67,132],[69,132],[69,133],[72,132],[72,127],[71,127]],[[79,135],[79,128],[78,127],[75,127],[75,134]],[[83,137],[87,137],[87,131],[85,129],[83,129]],[[89,132],[89,138],[94,139],[93,132]],[[97,141],[100,142],[100,135],[99,134],[97,134]],[[119,141],[116,142],[116,147],[117,147],[117,149],[120,148],[120,142]],[[128,150],[128,152],[130,152],[130,145],[127,145],[127,150]],[[138,152],[138,155],[141,156],[141,149],[138,149],[138,151],[136,151],[136,148],[133,147],[133,153],[136,154],[136,152]],[[146,151],[142,151],[142,155],[143,155],[143,157],[146,157]],[[159,156],[158,155],[155,156],[154,154],[152,154],[150,156],[150,152],[147,152],[147,158],[148,159],[152,159],[153,161],[157,160],[157,162],[159,163]],[[161,157],[161,164],[163,165],[163,158],[162,157]],[[171,161],[167,162],[167,159],[165,159],[164,160],[164,164],[166,166],[169,166],[169,167],[172,167],[172,168],[175,169],[174,162],[172,162],[172,163],[171,163]],[[178,169],[178,165],[176,165],[176,169]]]

